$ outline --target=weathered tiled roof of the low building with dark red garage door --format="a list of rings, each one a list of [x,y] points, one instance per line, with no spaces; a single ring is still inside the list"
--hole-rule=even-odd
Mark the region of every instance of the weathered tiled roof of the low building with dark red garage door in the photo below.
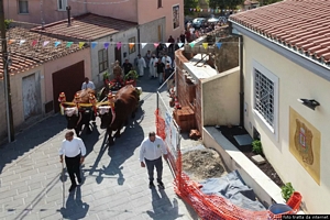
[[[84,46],[79,48],[78,44],[72,44],[70,47],[67,47],[67,42],[61,42],[61,44],[55,47],[55,42],[58,42],[58,38],[41,35],[22,28],[10,29],[7,32],[7,37],[15,40],[15,42],[8,44],[9,57],[12,62],[9,66],[10,74],[16,74],[34,68],[43,63],[85,48]],[[20,45],[21,40],[25,40],[25,42]],[[37,43],[32,46],[32,42],[35,40]],[[44,42],[48,42],[48,44],[44,46]],[[0,59],[0,78],[3,77],[2,65],[2,59]]]

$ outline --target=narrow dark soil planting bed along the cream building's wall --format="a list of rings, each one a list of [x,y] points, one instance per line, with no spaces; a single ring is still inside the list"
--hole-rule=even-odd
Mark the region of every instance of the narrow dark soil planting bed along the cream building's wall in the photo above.
[[[248,131],[244,128],[241,127],[220,127],[218,129],[221,131],[221,133],[233,144],[238,150],[240,150],[250,161],[252,156],[256,155],[255,153],[252,152],[252,145],[240,145],[237,140],[233,138],[234,135],[240,135],[240,134],[249,134]],[[263,156],[265,158],[265,156]],[[277,186],[282,187],[284,186],[284,183],[273,168],[272,164],[265,158],[266,163],[258,165],[256,163],[253,163],[265,174],[267,175]]]

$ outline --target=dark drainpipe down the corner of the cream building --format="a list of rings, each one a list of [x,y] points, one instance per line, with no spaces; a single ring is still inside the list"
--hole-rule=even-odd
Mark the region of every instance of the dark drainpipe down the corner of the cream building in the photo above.
[[[240,38],[240,127],[244,127],[244,76],[243,76],[243,35],[232,32],[232,23],[229,22],[231,35]]]

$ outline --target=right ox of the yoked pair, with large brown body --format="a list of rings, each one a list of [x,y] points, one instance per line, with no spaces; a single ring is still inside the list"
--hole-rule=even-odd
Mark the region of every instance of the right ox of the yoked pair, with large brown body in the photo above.
[[[99,107],[99,117],[101,119],[101,129],[107,129],[109,135],[109,145],[113,144],[112,131],[116,131],[114,138],[120,138],[120,130],[123,124],[128,124],[128,118],[135,117],[139,107],[140,94],[132,85],[121,88],[114,97],[114,107]]]

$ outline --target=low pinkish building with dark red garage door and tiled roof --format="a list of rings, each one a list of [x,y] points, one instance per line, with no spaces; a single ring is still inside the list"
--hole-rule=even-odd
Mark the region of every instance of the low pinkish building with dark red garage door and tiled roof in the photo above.
[[[73,99],[85,76],[90,77],[90,51],[87,46],[44,36],[25,29],[8,31],[9,73],[13,125],[15,131],[58,111],[58,95]],[[55,44],[57,46],[55,46]],[[2,62],[0,64],[2,66]],[[72,79],[75,80],[72,80]],[[0,69],[0,90],[4,90]],[[0,105],[6,108],[3,92]],[[7,133],[6,111],[0,112],[0,140]]]

